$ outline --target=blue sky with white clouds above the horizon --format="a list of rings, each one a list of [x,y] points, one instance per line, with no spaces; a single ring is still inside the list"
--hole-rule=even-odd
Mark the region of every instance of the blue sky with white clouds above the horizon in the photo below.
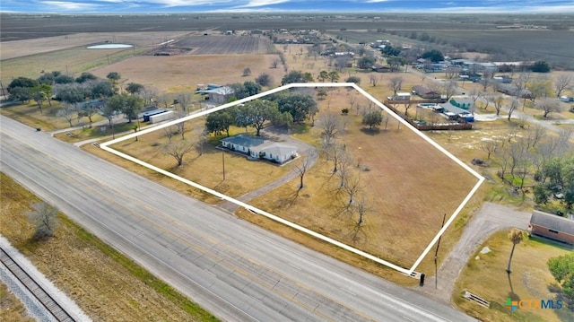
[[[2,13],[574,13],[572,0],[2,0]]]

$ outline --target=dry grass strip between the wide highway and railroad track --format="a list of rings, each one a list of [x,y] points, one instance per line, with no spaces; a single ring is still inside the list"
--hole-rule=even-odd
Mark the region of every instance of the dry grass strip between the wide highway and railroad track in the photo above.
[[[94,321],[201,320],[178,307],[173,299],[156,292],[150,286],[154,283],[151,274],[150,280],[136,278],[117,258],[98,248],[97,245],[103,245],[101,241],[63,215],[58,216],[56,237],[30,241],[34,229],[25,213],[30,212],[31,205],[39,202],[39,198],[4,173],[0,178],[0,233]],[[3,320],[13,320],[9,317]]]

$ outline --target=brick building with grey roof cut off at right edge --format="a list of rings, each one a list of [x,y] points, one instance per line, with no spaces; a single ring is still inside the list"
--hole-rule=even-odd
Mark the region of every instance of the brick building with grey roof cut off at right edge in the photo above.
[[[574,245],[574,221],[552,213],[533,211],[528,233]]]

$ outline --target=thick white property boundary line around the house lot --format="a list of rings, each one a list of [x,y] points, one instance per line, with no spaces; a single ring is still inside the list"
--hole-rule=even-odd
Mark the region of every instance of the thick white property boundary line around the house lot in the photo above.
[[[247,101],[249,101],[249,100],[256,100],[256,99],[265,97],[265,96],[267,96],[267,95],[269,95],[269,94],[273,94],[273,93],[278,92],[278,91],[284,91],[284,90],[288,90],[288,89],[296,88],[296,87],[310,87],[310,88],[317,88],[317,87],[352,87],[353,89],[355,89],[355,90],[361,92],[362,95],[364,95],[366,98],[368,98],[369,100],[371,100],[373,103],[377,104],[377,106],[378,106],[379,108],[384,109],[389,115],[395,117],[397,121],[403,123],[404,126],[406,126],[406,127],[408,127],[409,129],[411,129],[415,134],[421,136],[423,140],[425,140],[425,141],[428,142],[429,144],[432,144],[432,146],[434,146],[435,148],[437,148],[440,152],[443,152],[443,153],[444,153],[445,155],[447,155],[448,158],[450,158],[452,161],[457,162],[458,165],[460,165],[461,167],[463,167],[465,170],[469,171],[471,174],[474,175],[474,177],[478,178],[478,182],[476,183],[476,185],[474,185],[473,189],[468,193],[468,195],[465,196],[465,199],[463,200],[463,202],[457,207],[457,210],[456,210],[454,213],[452,213],[452,215],[448,218],[448,221],[445,223],[445,225],[442,227],[442,229],[437,233],[437,235],[431,240],[431,243],[429,244],[429,246],[427,246],[427,247],[424,249],[424,251],[422,252],[421,256],[417,258],[417,260],[414,262],[414,264],[413,264],[413,266],[411,266],[411,268],[408,268],[408,269],[407,269],[407,268],[404,268],[404,267],[395,265],[395,264],[393,264],[393,263],[387,262],[387,261],[384,260],[384,259],[381,259],[381,258],[375,257],[375,256],[373,256],[373,255],[370,255],[369,253],[366,253],[366,252],[364,252],[364,251],[362,251],[362,250],[360,250],[360,249],[352,248],[352,247],[349,246],[349,245],[346,245],[346,244],[344,244],[344,243],[342,243],[342,242],[340,242],[340,241],[337,241],[337,240],[335,240],[335,239],[328,238],[328,237],[326,237],[325,235],[322,235],[322,234],[317,233],[316,231],[311,231],[311,230],[309,230],[309,229],[307,229],[307,228],[305,228],[305,227],[302,227],[302,226],[300,226],[300,225],[298,225],[298,224],[296,224],[296,223],[294,223],[294,222],[289,222],[289,221],[287,221],[287,220],[284,220],[283,218],[278,217],[278,216],[274,215],[273,213],[267,213],[267,212],[265,212],[264,210],[258,209],[258,208],[254,207],[254,206],[252,206],[252,205],[245,204],[245,203],[243,203],[243,202],[241,202],[241,201],[239,201],[239,200],[237,200],[237,199],[234,199],[234,198],[232,198],[232,197],[230,197],[230,196],[223,195],[222,193],[217,192],[217,191],[215,191],[215,190],[213,190],[213,189],[210,189],[210,188],[208,188],[208,187],[201,186],[201,185],[197,184],[196,182],[193,182],[193,181],[188,180],[187,178],[181,178],[181,177],[179,177],[179,176],[177,176],[177,175],[175,175],[175,174],[173,174],[173,173],[171,173],[171,172],[169,172],[169,171],[162,170],[162,169],[160,169],[160,168],[158,168],[158,167],[156,167],[156,166],[153,166],[152,164],[149,164],[149,163],[147,163],[147,162],[141,161],[141,160],[136,159],[136,158],[134,158],[134,157],[132,157],[132,156],[130,156],[130,155],[127,155],[126,153],[119,152],[119,151],[114,150],[114,149],[112,149],[112,148],[109,147],[109,145],[117,144],[117,143],[119,143],[119,142],[128,140],[128,139],[133,138],[133,137],[138,136],[138,135],[145,135],[145,134],[151,133],[151,132],[153,132],[153,131],[160,130],[160,129],[162,129],[162,128],[164,128],[164,127],[167,127],[167,126],[173,126],[173,125],[178,124],[178,123],[180,123],[180,122],[185,122],[185,121],[187,121],[187,120],[189,120],[189,119],[192,119],[192,118],[203,117],[203,116],[205,116],[205,115],[207,115],[207,114],[216,112],[216,111],[218,111],[218,110],[227,109],[227,108],[230,108],[230,107],[232,107],[232,106],[245,103],[245,102],[247,102]],[[287,225],[287,226],[289,226],[289,227],[291,227],[291,228],[293,228],[293,229],[296,229],[296,230],[298,230],[298,231],[304,232],[304,233],[306,233],[306,234],[308,234],[308,235],[310,235],[310,236],[313,236],[313,237],[315,237],[315,238],[317,238],[317,239],[324,240],[324,241],[326,241],[326,242],[328,242],[328,243],[330,243],[330,244],[332,244],[332,245],[335,245],[335,246],[337,246],[337,247],[344,248],[345,250],[348,250],[348,251],[350,251],[350,252],[352,252],[352,253],[354,253],[354,254],[360,255],[361,257],[369,258],[370,260],[375,261],[375,262],[377,262],[378,264],[386,265],[387,267],[393,268],[393,269],[395,269],[396,271],[401,272],[401,273],[403,273],[403,274],[407,274],[407,275],[413,274],[413,272],[414,272],[414,270],[416,269],[416,267],[421,264],[422,259],[429,253],[429,251],[431,251],[431,248],[437,243],[437,241],[439,240],[440,236],[442,236],[442,234],[448,229],[448,226],[450,226],[450,224],[455,220],[455,218],[457,217],[458,213],[460,213],[460,212],[462,211],[462,209],[463,209],[463,208],[465,207],[465,205],[468,203],[468,201],[470,200],[470,198],[474,195],[474,193],[476,192],[476,190],[478,189],[478,187],[480,187],[480,186],[483,184],[483,181],[484,181],[483,176],[481,176],[478,172],[474,171],[472,168],[470,168],[469,166],[467,166],[463,161],[458,160],[454,155],[452,155],[450,152],[448,152],[447,150],[445,150],[442,146],[440,146],[439,144],[437,144],[436,142],[434,142],[433,140],[431,140],[431,138],[429,138],[429,137],[426,136],[426,135],[423,135],[421,131],[417,130],[414,126],[410,125],[410,124],[409,124],[408,122],[406,122],[402,117],[396,116],[395,112],[393,112],[392,110],[388,109],[387,106],[383,105],[381,102],[379,102],[378,100],[376,100],[376,99],[375,99],[374,97],[372,97],[368,92],[366,92],[366,91],[364,91],[363,89],[361,89],[361,87],[359,87],[359,86],[358,86],[357,84],[355,84],[355,83],[290,83],[290,84],[287,84],[287,85],[284,85],[284,86],[275,88],[275,89],[270,90],[270,91],[264,91],[264,92],[258,93],[257,95],[253,95],[253,96],[250,96],[250,97],[245,98],[245,99],[235,100],[235,101],[233,101],[233,102],[230,102],[230,103],[227,103],[227,104],[223,104],[223,105],[218,106],[218,107],[213,108],[213,109],[206,109],[206,110],[204,110],[204,111],[200,111],[200,112],[194,113],[194,114],[189,115],[189,116],[187,116],[187,117],[181,117],[181,118],[175,119],[175,120],[173,120],[173,121],[170,121],[170,122],[161,124],[160,126],[153,126],[153,127],[151,127],[151,128],[144,129],[144,130],[142,130],[142,131],[140,131],[140,132],[137,132],[137,133],[132,133],[132,134],[130,134],[130,135],[125,135],[125,136],[119,137],[119,138],[117,138],[117,139],[115,139],[115,140],[111,140],[111,141],[109,141],[109,142],[105,142],[105,143],[100,144],[100,148],[103,149],[103,150],[105,150],[105,151],[108,151],[108,152],[111,152],[111,153],[113,153],[113,154],[116,154],[117,156],[122,157],[122,158],[124,158],[124,159],[126,159],[126,160],[133,161],[133,162],[135,162],[135,163],[137,163],[137,164],[139,164],[139,165],[142,165],[143,167],[146,167],[146,168],[148,168],[148,169],[150,169],[150,170],[157,171],[157,172],[159,172],[159,173],[161,173],[161,174],[163,174],[163,175],[165,175],[165,176],[168,176],[168,177],[170,177],[170,178],[175,178],[176,180],[178,180],[178,181],[180,181],[180,182],[183,182],[183,183],[185,183],[185,184],[187,184],[187,185],[189,185],[189,186],[191,186],[191,187],[196,187],[196,188],[198,188],[198,189],[200,189],[200,190],[202,190],[202,191],[204,191],[204,192],[206,192],[206,193],[208,193],[208,194],[211,194],[211,195],[213,195],[213,196],[217,196],[217,197],[219,197],[219,198],[221,198],[221,199],[223,199],[223,200],[229,201],[230,203],[233,203],[233,204],[235,204],[235,205],[239,205],[239,206],[241,206],[241,207],[244,207],[244,208],[246,208],[246,209],[248,209],[248,210],[250,210],[250,211],[252,211],[252,212],[254,212],[254,213],[259,213],[259,214],[261,214],[261,215],[264,215],[265,217],[267,217],[267,218],[269,218],[269,219],[272,219],[272,220],[274,220],[275,222],[281,222],[281,223],[283,223],[284,225]]]

